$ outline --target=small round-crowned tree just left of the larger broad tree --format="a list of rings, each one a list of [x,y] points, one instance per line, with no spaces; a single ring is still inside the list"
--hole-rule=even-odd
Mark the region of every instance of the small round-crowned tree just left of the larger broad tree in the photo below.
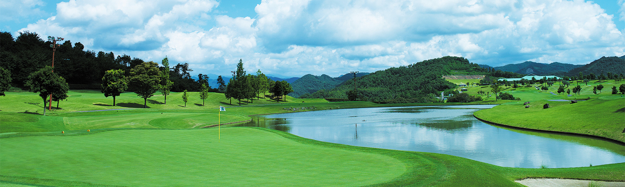
[[[124,70],[118,69],[104,72],[100,86],[102,87],[104,97],[113,96],[113,106],[115,106],[115,97],[118,97],[119,94],[124,93],[128,89],[128,80],[124,76]]]

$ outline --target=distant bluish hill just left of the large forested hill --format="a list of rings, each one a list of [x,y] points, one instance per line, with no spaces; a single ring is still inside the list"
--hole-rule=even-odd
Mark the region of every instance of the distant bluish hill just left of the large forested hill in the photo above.
[[[341,84],[341,82],[341,80],[333,79],[326,74],[321,76],[307,74],[291,84],[293,92],[289,93],[289,95],[297,98],[304,93],[314,93],[321,89],[332,89],[337,84]]]

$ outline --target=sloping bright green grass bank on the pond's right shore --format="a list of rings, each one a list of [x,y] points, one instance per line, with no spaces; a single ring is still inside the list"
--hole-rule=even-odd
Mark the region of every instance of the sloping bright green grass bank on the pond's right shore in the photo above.
[[[543,109],[549,103],[550,108]],[[473,114],[489,122],[514,127],[571,132],[625,141],[625,98],[604,96],[577,103],[538,100],[525,108],[509,102]]]

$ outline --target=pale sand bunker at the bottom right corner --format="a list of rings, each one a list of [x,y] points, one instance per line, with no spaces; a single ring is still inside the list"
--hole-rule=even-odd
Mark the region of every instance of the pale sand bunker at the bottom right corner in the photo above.
[[[559,178],[528,178],[517,180],[516,182],[529,187],[587,187],[591,183],[591,181],[587,180],[564,180]],[[594,183],[602,187],[625,187],[625,182],[594,181]]]

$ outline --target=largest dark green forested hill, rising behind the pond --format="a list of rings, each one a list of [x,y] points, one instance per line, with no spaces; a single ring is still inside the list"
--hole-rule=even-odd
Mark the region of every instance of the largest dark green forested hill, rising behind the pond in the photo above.
[[[441,57],[424,60],[402,67],[379,70],[356,79],[357,94],[361,100],[389,103],[436,102],[436,95],[443,90],[456,88],[442,75],[451,74],[486,75],[487,69],[472,64],[463,57]],[[307,93],[300,98],[347,98],[347,91],[354,89],[354,79],[334,89]]]

